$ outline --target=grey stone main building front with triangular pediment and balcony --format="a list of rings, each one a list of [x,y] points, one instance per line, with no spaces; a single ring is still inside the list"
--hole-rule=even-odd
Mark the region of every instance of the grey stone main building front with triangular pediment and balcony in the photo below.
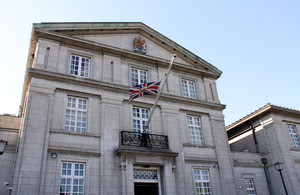
[[[142,145],[155,96],[129,88],[164,79],[173,54]],[[34,24],[10,193],[235,194],[220,75],[142,23]]]

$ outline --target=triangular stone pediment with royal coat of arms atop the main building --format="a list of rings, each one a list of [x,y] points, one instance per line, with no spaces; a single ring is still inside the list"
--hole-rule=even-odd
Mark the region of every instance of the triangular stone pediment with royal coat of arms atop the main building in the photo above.
[[[143,23],[40,23],[34,28],[165,61],[170,61],[175,53],[176,63],[182,67],[210,72],[216,77],[222,74],[213,65]]]

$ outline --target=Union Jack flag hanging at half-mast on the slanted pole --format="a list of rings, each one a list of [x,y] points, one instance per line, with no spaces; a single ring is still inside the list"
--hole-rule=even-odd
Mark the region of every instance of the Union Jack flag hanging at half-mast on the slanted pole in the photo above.
[[[130,97],[129,102],[131,100],[142,97],[143,95],[154,95],[156,96],[160,81],[144,83],[142,85],[136,85],[130,88]]]

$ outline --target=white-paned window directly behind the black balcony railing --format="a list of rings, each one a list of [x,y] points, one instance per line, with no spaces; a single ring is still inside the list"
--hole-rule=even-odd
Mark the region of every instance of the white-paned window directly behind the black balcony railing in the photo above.
[[[144,128],[149,118],[149,110],[144,108],[134,107],[132,109],[132,113],[133,113],[133,131],[142,133],[144,131]],[[150,133],[149,126],[147,128],[147,133]]]

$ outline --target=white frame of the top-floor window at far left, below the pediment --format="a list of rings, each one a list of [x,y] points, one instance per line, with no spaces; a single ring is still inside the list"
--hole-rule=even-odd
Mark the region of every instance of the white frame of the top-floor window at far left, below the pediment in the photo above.
[[[75,74],[76,70],[72,69],[73,57],[75,57],[75,58],[78,57],[79,58],[77,74]],[[85,61],[89,60],[87,67],[86,66],[82,66],[83,59],[85,59]],[[91,57],[80,55],[80,54],[71,53],[70,54],[70,64],[69,64],[69,74],[77,76],[77,77],[89,78],[90,77],[90,69],[91,69],[91,60],[92,60]],[[82,70],[82,67],[83,67],[83,70]],[[72,73],[72,71],[73,71],[73,73]],[[83,76],[81,75],[82,71],[83,71]]]

